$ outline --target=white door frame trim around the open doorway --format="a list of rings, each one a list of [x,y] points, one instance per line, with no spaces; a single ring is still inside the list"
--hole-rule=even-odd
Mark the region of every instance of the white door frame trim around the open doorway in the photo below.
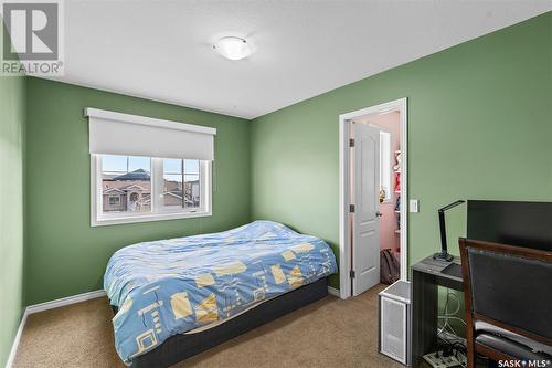
[[[351,290],[351,231],[349,221],[349,198],[350,198],[350,122],[378,113],[399,111],[401,124],[401,280],[408,278],[407,255],[408,255],[408,232],[407,232],[407,141],[408,141],[408,112],[406,97],[388,103],[358,109],[351,113],[339,115],[339,297],[347,299],[352,295]]]

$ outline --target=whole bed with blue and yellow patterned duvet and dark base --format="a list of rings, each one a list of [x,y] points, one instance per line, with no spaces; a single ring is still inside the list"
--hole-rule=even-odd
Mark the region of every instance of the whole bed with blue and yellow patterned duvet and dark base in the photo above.
[[[166,367],[327,295],[322,240],[272,221],[117,251],[104,287],[126,365]]]

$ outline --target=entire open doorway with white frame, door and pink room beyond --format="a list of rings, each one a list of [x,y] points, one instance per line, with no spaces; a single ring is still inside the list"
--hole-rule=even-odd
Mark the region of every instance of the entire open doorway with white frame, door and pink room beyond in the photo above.
[[[407,278],[406,98],[343,114],[339,125],[340,297],[348,298],[380,283],[381,254]]]

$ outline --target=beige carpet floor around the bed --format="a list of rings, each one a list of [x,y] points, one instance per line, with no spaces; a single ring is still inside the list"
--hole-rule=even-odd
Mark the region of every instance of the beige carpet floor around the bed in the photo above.
[[[328,296],[174,367],[402,367],[378,354],[378,293]],[[125,367],[106,298],[29,316],[14,367]]]

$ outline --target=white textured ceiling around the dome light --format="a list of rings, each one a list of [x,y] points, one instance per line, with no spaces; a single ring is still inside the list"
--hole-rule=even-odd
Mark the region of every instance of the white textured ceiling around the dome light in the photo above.
[[[64,82],[253,118],[552,10],[539,1],[65,1]],[[212,50],[245,38],[254,54]]]

